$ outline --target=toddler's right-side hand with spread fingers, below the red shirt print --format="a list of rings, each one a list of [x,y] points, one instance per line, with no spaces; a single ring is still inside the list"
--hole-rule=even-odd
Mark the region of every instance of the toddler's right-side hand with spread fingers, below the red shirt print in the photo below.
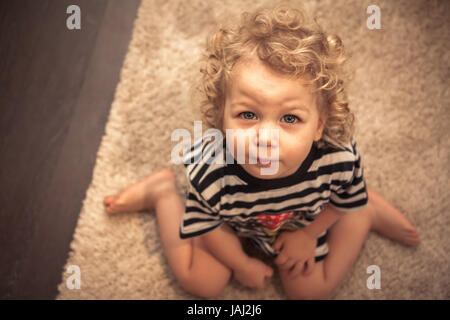
[[[302,229],[285,231],[278,236],[274,244],[274,249],[280,252],[275,259],[275,263],[280,269],[289,270],[289,275],[292,278],[297,277],[302,272],[305,275],[310,275],[315,264],[316,243],[317,239],[311,237]]]

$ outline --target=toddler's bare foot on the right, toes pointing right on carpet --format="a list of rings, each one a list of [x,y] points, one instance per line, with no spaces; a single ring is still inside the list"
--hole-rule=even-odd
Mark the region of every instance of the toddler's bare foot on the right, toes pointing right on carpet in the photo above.
[[[369,205],[373,208],[371,229],[389,239],[417,246],[420,243],[419,234],[408,219],[375,191],[367,189],[367,192]]]

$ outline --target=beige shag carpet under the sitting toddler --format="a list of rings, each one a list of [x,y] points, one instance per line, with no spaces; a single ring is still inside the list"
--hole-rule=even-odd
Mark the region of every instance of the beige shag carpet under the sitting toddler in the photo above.
[[[64,270],[78,265],[81,289],[62,274],[58,299],[193,299],[175,281],[152,212],[109,217],[103,197],[170,168],[184,196],[182,165],[170,163],[176,128],[200,119],[190,87],[206,35],[227,15],[264,1],[144,0]],[[375,1],[381,29],[369,30],[374,1],[301,1],[353,55],[349,90],[368,185],[417,226],[412,249],[371,233],[332,299],[450,297],[450,2]],[[381,289],[366,286],[367,267]],[[220,299],[285,299],[277,276],[265,289],[232,281]]]

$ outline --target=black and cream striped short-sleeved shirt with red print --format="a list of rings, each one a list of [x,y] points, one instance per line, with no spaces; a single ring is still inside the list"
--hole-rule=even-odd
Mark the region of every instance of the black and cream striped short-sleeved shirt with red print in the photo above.
[[[367,205],[354,139],[341,148],[318,148],[314,143],[295,173],[276,179],[250,175],[232,156],[234,163],[227,164],[226,138],[216,143],[205,140],[194,142],[184,155],[188,189],[182,239],[203,235],[226,222],[238,236],[251,238],[265,253],[276,256],[273,244],[278,235],[309,224],[326,205],[340,211]],[[213,157],[222,161],[211,161]]]

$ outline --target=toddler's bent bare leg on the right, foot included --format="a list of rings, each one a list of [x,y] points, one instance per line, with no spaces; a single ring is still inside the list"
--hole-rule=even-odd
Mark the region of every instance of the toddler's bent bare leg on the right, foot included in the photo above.
[[[280,269],[284,289],[291,299],[327,298],[350,272],[370,230],[406,245],[419,244],[417,231],[406,217],[373,190],[368,189],[368,193],[368,207],[347,213],[329,230],[328,256],[316,263],[310,276],[292,279]]]

